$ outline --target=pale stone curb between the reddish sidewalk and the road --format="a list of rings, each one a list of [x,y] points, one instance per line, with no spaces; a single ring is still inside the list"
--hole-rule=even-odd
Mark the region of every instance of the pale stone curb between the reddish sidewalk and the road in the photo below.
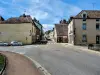
[[[25,55],[26,56],[26,55]],[[36,66],[37,69],[39,69],[41,72],[43,72],[44,75],[51,75],[44,67],[42,67],[37,61],[33,60],[32,58],[26,56],[28,59],[30,59]]]

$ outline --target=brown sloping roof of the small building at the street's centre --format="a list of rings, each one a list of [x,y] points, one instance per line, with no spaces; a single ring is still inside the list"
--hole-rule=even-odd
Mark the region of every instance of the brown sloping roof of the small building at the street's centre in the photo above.
[[[68,25],[66,24],[55,24],[57,36],[67,36],[68,35]]]

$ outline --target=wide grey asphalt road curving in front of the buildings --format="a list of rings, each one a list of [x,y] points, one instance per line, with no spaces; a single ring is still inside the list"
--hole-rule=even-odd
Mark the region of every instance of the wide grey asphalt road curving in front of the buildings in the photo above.
[[[47,45],[0,47],[0,50],[27,55],[51,75],[100,75],[100,56],[74,47],[49,42]]]

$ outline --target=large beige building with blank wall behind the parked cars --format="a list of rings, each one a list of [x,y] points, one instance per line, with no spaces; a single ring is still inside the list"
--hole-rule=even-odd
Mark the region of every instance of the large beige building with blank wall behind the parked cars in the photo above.
[[[20,41],[23,44],[32,44],[37,39],[37,28],[29,15],[0,20],[0,41]]]

